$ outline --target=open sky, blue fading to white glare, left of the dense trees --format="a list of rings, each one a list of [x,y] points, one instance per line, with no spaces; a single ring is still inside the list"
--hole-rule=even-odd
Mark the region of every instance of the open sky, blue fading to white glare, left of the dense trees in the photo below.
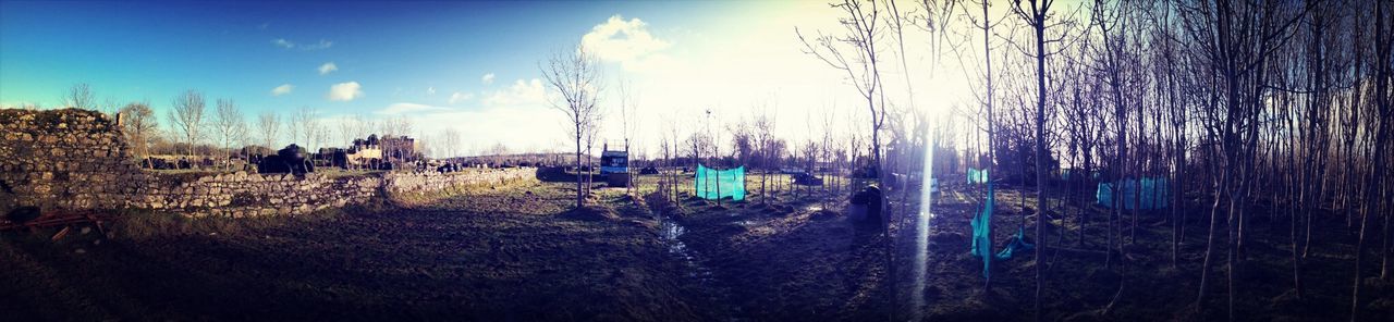
[[[406,117],[428,142],[453,128],[456,155],[567,151],[539,64],[585,45],[602,61],[606,141],[623,138],[620,84],[641,152],[669,127],[707,127],[708,110],[717,131],[764,110],[776,134],[806,138],[866,117],[795,32],[836,33],[836,15],[821,1],[0,1],[0,106],[57,107],[89,84],[99,102],[149,100],[163,117],[194,89],[250,120],[308,106],[326,123]],[[924,68],[927,54],[907,60]],[[969,92],[963,74],[940,74],[887,88],[921,106]],[[848,125],[825,130],[825,116]]]

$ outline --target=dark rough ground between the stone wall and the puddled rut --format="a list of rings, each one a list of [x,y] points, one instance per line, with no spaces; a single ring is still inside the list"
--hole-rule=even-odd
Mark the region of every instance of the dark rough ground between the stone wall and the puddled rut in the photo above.
[[[560,184],[429,206],[0,238],[0,312],[134,321],[710,321],[655,231],[572,219]],[[131,226],[131,224],[127,224]],[[125,231],[131,233],[131,231]]]

